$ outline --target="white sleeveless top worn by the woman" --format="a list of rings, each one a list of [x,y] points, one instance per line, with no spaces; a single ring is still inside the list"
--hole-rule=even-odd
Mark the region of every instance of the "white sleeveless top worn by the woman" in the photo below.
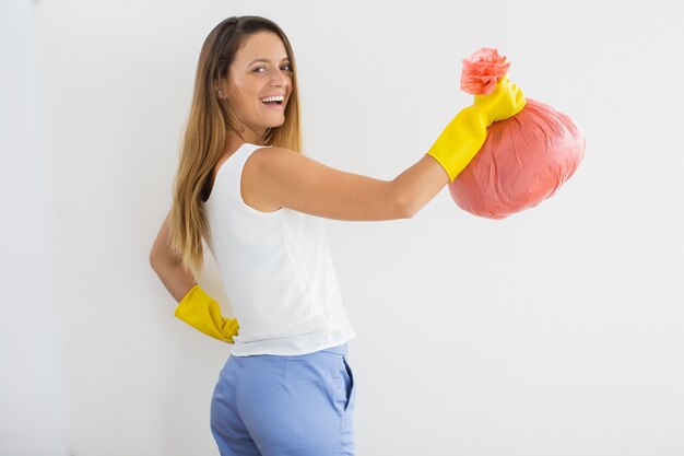
[[[281,208],[262,212],[240,194],[245,143],[216,172],[207,239],[239,324],[231,353],[305,354],[356,337],[340,295],[323,219]]]

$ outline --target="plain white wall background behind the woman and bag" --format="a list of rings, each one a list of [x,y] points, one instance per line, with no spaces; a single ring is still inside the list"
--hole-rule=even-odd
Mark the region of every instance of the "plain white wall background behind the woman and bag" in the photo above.
[[[4,0],[0,455],[217,455],[231,347],[148,262],[199,50],[231,15],[295,50],[308,156],[392,179],[496,47],[586,157],[503,221],[445,188],[411,220],[327,222],[359,455],[684,454],[681,1]],[[224,305],[215,265],[200,283]]]

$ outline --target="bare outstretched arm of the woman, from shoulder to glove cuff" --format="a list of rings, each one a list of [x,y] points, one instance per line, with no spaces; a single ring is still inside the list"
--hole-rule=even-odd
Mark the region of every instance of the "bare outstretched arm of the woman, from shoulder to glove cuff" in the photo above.
[[[352,221],[410,219],[449,182],[441,165],[428,155],[396,179],[380,180],[281,148],[255,151],[243,177],[248,188],[274,207]]]

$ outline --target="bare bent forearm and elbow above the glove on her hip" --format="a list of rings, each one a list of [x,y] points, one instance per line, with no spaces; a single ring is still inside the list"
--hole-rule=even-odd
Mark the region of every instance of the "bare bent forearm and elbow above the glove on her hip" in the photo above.
[[[166,290],[180,302],[188,291],[197,284],[192,273],[185,270],[180,259],[170,249],[168,231],[168,215],[164,219],[162,229],[154,239],[150,250],[150,266],[160,277]]]

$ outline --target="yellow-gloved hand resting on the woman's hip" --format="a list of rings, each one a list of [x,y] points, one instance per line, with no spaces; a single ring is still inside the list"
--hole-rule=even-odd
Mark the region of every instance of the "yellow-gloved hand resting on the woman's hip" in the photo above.
[[[204,293],[199,284],[188,291],[174,315],[207,336],[235,343],[233,336],[237,336],[239,328],[237,319],[224,318],[219,303]]]

